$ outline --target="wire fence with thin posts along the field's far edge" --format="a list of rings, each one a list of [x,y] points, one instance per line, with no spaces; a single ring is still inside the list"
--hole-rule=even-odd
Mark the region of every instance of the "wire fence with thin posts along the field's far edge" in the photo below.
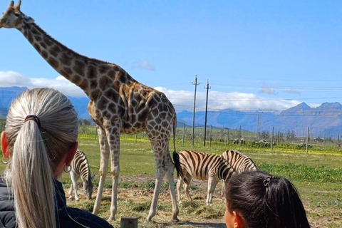
[[[6,120],[0,120],[0,132],[4,130]],[[255,150],[256,147],[262,147],[265,150],[281,150],[294,151],[305,150],[306,152],[315,147],[315,150],[341,150],[341,136],[326,137],[326,135],[317,136],[316,132],[321,130],[303,129],[302,133],[298,130],[289,130],[286,133],[280,133],[272,128],[272,130],[263,130],[259,133],[254,133],[240,129],[229,128],[195,128],[192,134],[192,128],[183,126],[176,130],[176,140],[182,145],[204,145],[211,146],[212,143],[221,143],[229,145],[240,150]],[[134,135],[135,141],[148,140],[145,133]],[[78,129],[78,138],[98,140],[98,132],[96,126],[80,125]],[[204,141],[205,138],[205,141]],[[170,139],[172,140],[172,138]]]

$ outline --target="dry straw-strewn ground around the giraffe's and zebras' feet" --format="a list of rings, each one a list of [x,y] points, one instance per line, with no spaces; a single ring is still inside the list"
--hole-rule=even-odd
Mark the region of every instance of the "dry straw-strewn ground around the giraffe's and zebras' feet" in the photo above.
[[[139,183],[144,182],[154,182],[154,177],[120,177],[119,182],[130,182],[138,185]],[[179,205],[180,213],[178,218],[180,222],[170,223],[168,222],[172,215],[171,209],[171,199],[170,199],[170,191],[168,189],[163,189],[160,192],[160,196],[158,199],[158,208],[157,214],[152,218],[153,222],[144,223],[145,217],[148,214],[150,209],[150,201],[152,200],[153,190],[152,189],[142,189],[141,187],[128,187],[128,188],[119,188],[118,190],[118,212],[116,215],[116,221],[110,222],[114,227],[120,227],[120,218],[121,217],[138,217],[138,227],[152,228],[152,227],[177,227],[177,228],[185,228],[185,227],[218,227],[224,228],[226,225],[224,224],[224,201],[221,197],[219,197],[221,192],[221,183],[218,183],[214,196],[213,196],[213,206],[209,207],[205,205],[205,197],[207,195],[207,182],[192,180],[190,186],[195,186],[195,189],[190,190],[190,195],[192,195],[192,202],[195,203],[195,207],[198,206],[197,212],[190,211],[189,207],[185,204],[189,202],[187,201],[184,192],[182,191],[182,201],[183,205]],[[79,184],[79,202],[70,202],[68,201],[68,206],[70,207],[78,207],[81,209],[88,209],[88,211],[92,211],[93,204],[95,202],[97,188],[94,187],[93,199],[90,202],[87,202],[85,197],[82,195],[81,191],[81,183]],[[66,190],[66,196],[68,197],[68,190]],[[109,217],[109,208],[110,208],[110,195],[111,190],[105,189],[103,192],[103,199],[101,202],[100,213],[98,214],[100,217],[107,219]],[[192,203],[191,202],[191,203]],[[146,203],[148,204],[146,206]],[[86,204],[86,206],[85,206]],[[132,212],[132,207],[136,207],[136,204],[145,204],[145,208],[142,208],[142,212]],[[191,205],[190,205],[191,206]],[[193,206],[193,205],[192,205]],[[207,214],[214,214],[212,217],[207,216]],[[326,227],[327,221],[324,221],[327,218],[321,218],[318,220],[310,221],[311,228],[318,227]]]

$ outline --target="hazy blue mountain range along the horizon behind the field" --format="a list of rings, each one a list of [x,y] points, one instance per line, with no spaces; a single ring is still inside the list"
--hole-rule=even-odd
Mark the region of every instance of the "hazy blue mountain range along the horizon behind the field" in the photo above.
[[[20,93],[27,88],[9,87],[0,88],[0,118],[6,118],[7,111]],[[78,117],[90,119],[87,105],[88,98],[69,97],[75,106]],[[177,113],[177,125],[192,126],[193,113],[182,110]],[[205,112],[195,113],[195,126],[203,127]],[[213,128],[229,128],[248,130],[252,132],[288,133],[294,130],[296,135],[306,136],[307,128],[310,134],[315,137],[336,138],[342,130],[342,105],[341,103],[323,103],[317,108],[311,108],[306,103],[300,103],[292,108],[276,111],[240,111],[240,110],[219,110],[207,112],[207,126]]]

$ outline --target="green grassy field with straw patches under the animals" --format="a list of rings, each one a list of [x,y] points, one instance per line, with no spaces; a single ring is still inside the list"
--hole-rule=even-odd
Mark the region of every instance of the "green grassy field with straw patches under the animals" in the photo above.
[[[168,224],[171,216],[170,195],[167,185],[163,185],[158,201],[157,215],[153,218],[156,223],[143,224],[150,209],[152,190],[154,185],[155,164],[153,152],[149,140],[136,139],[134,135],[121,136],[120,152],[120,179],[118,193],[117,221],[115,227],[120,227],[120,217],[138,217],[139,227],[196,227],[199,224],[207,227],[224,227],[224,202],[219,199],[217,186],[214,195],[214,206],[207,207],[204,204],[206,195],[206,183],[192,182],[190,194],[192,202],[183,198],[180,205],[179,224]],[[172,143],[170,143],[172,145]],[[177,140],[177,151],[197,150],[201,152],[219,155],[224,150],[237,149],[237,145],[222,142],[212,142],[211,147],[203,147],[202,143],[196,143],[191,147],[190,142],[182,146],[182,141]],[[79,149],[86,152],[92,172],[98,173],[100,149],[95,139],[79,139]],[[342,227],[342,154],[338,150],[322,150],[320,147],[312,147],[309,154],[304,150],[291,150],[282,152],[270,152],[269,148],[240,149],[256,162],[257,167],[273,175],[281,175],[289,178],[299,190],[301,199],[309,217],[311,227]],[[4,165],[0,165],[4,169]],[[110,167],[109,167],[110,170]],[[64,174],[61,177],[66,189],[70,187],[70,177]],[[95,178],[98,185],[99,178]],[[81,182],[81,180],[79,180]],[[80,184],[81,185],[81,184]],[[111,187],[110,174],[107,176],[105,187]],[[79,191],[81,192],[81,190]],[[109,216],[110,189],[103,197],[100,217]],[[81,194],[79,194],[81,195]],[[95,194],[93,194],[95,198]],[[94,199],[89,202],[84,198],[80,202],[68,202],[72,207],[80,207],[92,211]],[[206,222],[207,221],[207,222]],[[209,221],[209,222],[208,222]]]

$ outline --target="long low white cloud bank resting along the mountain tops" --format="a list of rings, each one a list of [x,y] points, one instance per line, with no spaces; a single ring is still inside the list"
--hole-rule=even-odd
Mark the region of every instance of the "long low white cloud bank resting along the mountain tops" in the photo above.
[[[73,97],[86,97],[86,94],[73,83],[63,76],[54,79],[48,78],[28,78],[20,73],[13,71],[0,71],[0,86],[26,86],[28,88],[47,87],[60,90],[62,93]],[[155,89],[167,95],[177,111],[193,110],[194,107],[194,91],[187,90],[170,90],[167,88],[156,87]],[[206,92],[198,92],[196,94],[196,111],[205,110]],[[284,110],[298,105],[297,100],[269,100],[254,93],[232,92],[224,93],[209,90],[208,110],[237,109],[237,110]]]

